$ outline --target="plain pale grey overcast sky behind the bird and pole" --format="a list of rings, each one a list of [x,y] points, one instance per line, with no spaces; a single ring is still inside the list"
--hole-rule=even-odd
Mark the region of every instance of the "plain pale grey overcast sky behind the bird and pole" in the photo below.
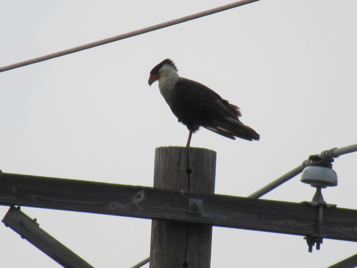
[[[228,4],[216,1],[2,1],[0,66]],[[217,152],[216,193],[247,196],[311,154],[355,144],[357,2],[261,0],[152,33],[0,73],[0,169],[152,186],[154,150],[185,146],[150,70],[171,58],[179,74],[238,105],[260,142],[206,129],[192,147]],[[356,206],[356,158],[337,158],[327,203]],[[310,201],[293,178],[263,198]],[[7,207],[0,206],[0,215]],[[151,221],[22,207],[95,267],[130,267],[150,253]],[[0,216],[1,218],[3,216]],[[1,267],[60,267],[0,226]],[[211,267],[326,267],[357,244],[213,228]],[[145,267],[148,267],[146,265]]]

